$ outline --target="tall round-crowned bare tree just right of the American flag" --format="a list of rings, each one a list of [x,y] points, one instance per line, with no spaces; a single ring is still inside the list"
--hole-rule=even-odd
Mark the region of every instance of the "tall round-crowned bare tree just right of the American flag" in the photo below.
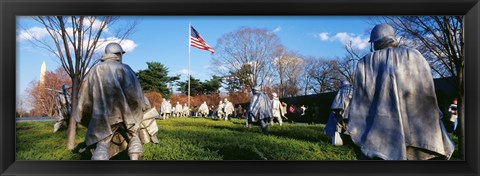
[[[273,32],[241,27],[218,39],[213,64],[221,76],[235,73],[237,78],[248,78],[242,80],[247,87],[263,85],[271,77],[270,63],[280,45],[280,39]],[[246,68],[249,69],[244,70]]]

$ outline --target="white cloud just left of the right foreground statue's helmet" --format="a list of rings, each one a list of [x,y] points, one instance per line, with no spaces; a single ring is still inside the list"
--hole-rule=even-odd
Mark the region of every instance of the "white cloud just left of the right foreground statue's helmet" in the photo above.
[[[322,32],[315,35],[316,38],[319,38],[321,41],[338,41],[346,45],[352,43],[353,48],[356,49],[365,49],[369,47],[368,37],[362,37],[361,35],[356,35],[353,33],[339,32],[333,36],[329,36],[329,33]]]

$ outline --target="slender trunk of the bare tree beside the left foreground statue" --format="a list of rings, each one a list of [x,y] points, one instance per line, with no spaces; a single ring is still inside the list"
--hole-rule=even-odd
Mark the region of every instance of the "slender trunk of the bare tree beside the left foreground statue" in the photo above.
[[[78,76],[73,76],[72,78],[72,109],[70,112],[77,111],[77,103],[78,103],[78,91],[80,89],[80,81]],[[75,148],[75,135],[77,133],[77,121],[75,118],[72,117],[73,113],[70,113],[70,121],[68,124],[67,130],[67,149],[73,150]]]

